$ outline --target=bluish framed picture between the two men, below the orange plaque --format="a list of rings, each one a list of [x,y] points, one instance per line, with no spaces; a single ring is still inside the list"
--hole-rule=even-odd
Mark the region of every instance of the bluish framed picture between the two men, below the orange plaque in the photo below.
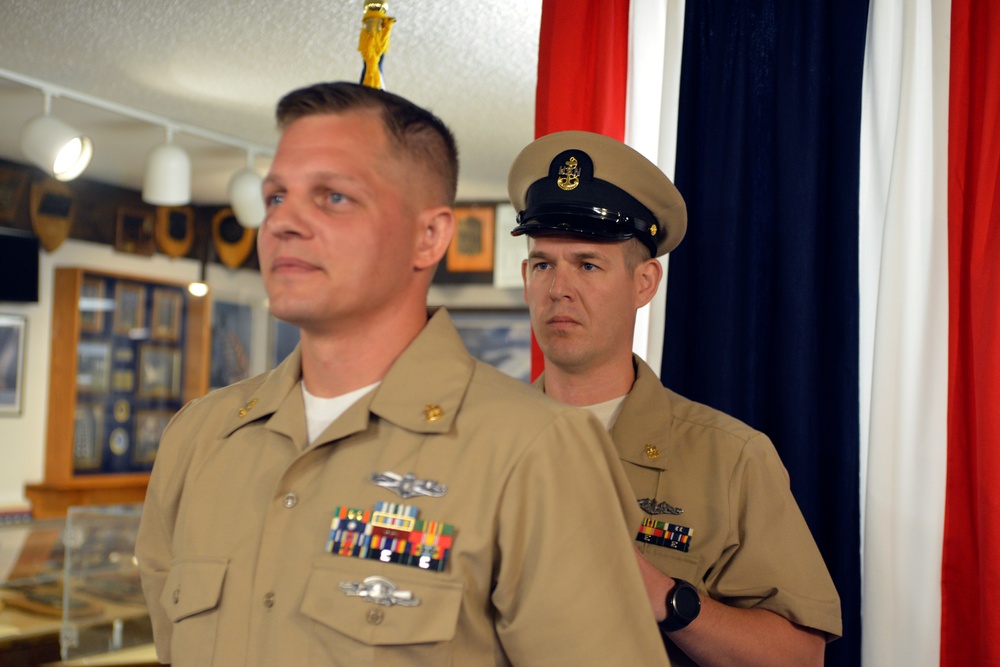
[[[469,354],[522,382],[531,381],[527,310],[449,311]]]

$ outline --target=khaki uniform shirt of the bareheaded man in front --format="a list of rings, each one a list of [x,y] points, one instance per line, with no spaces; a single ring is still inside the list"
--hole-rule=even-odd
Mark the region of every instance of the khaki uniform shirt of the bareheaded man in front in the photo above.
[[[312,444],[300,364],[193,401],[163,435],[136,544],[160,660],[668,664],[595,419],[473,360],[443,309]],[[383,472],[446,492],[403,499]],[[377,501],[454,526],[444,571],[326,552],[334,508]],[[341,588],[375,575],[419,604]]]

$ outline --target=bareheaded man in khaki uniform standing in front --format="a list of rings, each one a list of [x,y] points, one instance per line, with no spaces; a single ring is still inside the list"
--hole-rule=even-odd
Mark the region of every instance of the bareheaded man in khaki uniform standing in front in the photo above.
[[[136,545],[159,659],[668,664],[607,435],[428,316],[450,132],[348,83],[278,122],[258,253],[302,340],[163,435]]]

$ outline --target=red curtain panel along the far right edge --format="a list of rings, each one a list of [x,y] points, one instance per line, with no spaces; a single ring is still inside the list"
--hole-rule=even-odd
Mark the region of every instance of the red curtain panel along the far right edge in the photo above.
[[[965,667],[1000,664],[1000,3],[951,11],[941,665]]]

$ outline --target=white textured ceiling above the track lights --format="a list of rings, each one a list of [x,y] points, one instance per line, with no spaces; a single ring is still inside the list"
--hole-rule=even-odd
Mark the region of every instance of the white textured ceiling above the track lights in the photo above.
[[[43,96],[4,73],[42,81],[260,146],[277,140],[274,106],[289,90],[357,81],[362,0],[0,0],[0,157],[25,162],[21,126]],[[462,201],[507,199],[507,169],[533,138],[541,0],[395,0],[385,87],[447,123],[459,144]],[[64,96],[52,113],[90,136],[85,178],[141,187],[162,127]],[[222,204],[246,164],[233,146],[179,132],[197,204]],[[262,151],[263,152],[263,151]],[[255,168],[264,173],[269,155]]]

